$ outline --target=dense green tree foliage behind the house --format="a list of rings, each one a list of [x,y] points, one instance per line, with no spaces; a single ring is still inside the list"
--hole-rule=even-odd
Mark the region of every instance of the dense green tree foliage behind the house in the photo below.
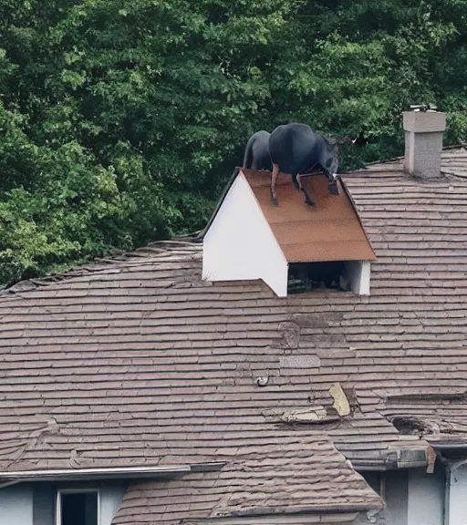
[[[0,0],[0,283],[201,228],[258,129],[465,140],[466,40],[464,0]]]

